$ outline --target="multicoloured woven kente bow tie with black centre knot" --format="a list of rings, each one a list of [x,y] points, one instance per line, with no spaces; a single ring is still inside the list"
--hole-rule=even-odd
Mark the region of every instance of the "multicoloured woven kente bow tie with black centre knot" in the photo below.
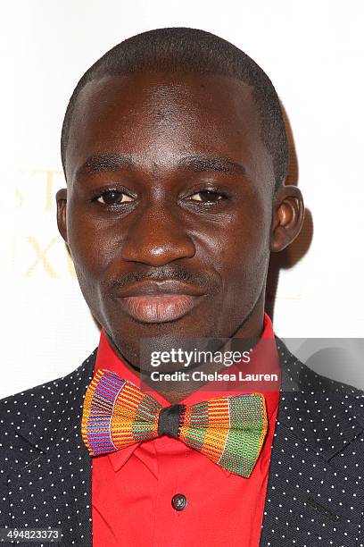
[[[163,408],[118,374],[98,369],[84,400],[82,439],[91,456],[167,434],[231,473],[252,473],[268,430],[261,393]]]

